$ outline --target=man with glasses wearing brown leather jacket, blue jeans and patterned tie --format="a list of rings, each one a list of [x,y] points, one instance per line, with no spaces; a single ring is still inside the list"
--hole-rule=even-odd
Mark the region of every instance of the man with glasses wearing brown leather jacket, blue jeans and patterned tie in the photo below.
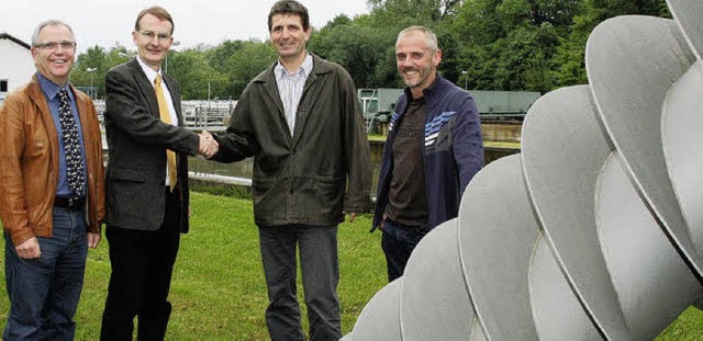
[[[100,126],[90,98],[68,81],[75,55],[70,26],[41,23],[32,35],[37,72],[0,106],[8,341],[74,340],[88,247],[100,242]]]

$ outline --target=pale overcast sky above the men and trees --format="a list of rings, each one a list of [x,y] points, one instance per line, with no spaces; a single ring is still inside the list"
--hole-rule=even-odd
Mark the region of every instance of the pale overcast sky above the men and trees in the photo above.
[[[299,0],[310,12],[314,27],[337,14],[368,13],[366,0]],[[60,19],[74,29],[79,52],[119,42],[134,48],[132,30],[138,12],[158,4],[174,18],[176,49],[199,43],[217,45],[226,39],[268,37],[267,19],[275,0],[0,0],[0,33],[31,41],[34,27],[46,19]]]

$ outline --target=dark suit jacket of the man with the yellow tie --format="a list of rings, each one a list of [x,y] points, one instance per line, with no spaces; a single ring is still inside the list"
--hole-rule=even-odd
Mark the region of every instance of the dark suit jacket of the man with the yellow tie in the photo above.
[[[178,115],[176,127],[160,121],[154,86],[136,59],[112,68],[105,75],[105,132],[109,159],[105,177],[108,227],[157,230],[166,205],[166,149],[176,152],[180,191],[180,230],[188,231],[188,155],[200,143],[196,133],[183,129],[180,91],[176,81],[163,75]]]

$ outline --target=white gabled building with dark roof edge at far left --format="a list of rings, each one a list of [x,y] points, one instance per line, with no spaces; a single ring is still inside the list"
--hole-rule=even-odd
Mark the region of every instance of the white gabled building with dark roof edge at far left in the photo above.
[[[0,33],[0,102],[8,92],[29,82],[34,75],[31,46],[7,33]]]

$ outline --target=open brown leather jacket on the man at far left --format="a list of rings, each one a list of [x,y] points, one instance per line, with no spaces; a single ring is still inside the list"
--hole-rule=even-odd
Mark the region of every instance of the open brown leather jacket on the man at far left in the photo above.
[[[100,126],[90,98],[71,90],[86,149],[88,230],[100,234],[104,217]],[[58,135],[36,76],[0,105],[0,218],[16,246],[36,236],[52,237]]]

